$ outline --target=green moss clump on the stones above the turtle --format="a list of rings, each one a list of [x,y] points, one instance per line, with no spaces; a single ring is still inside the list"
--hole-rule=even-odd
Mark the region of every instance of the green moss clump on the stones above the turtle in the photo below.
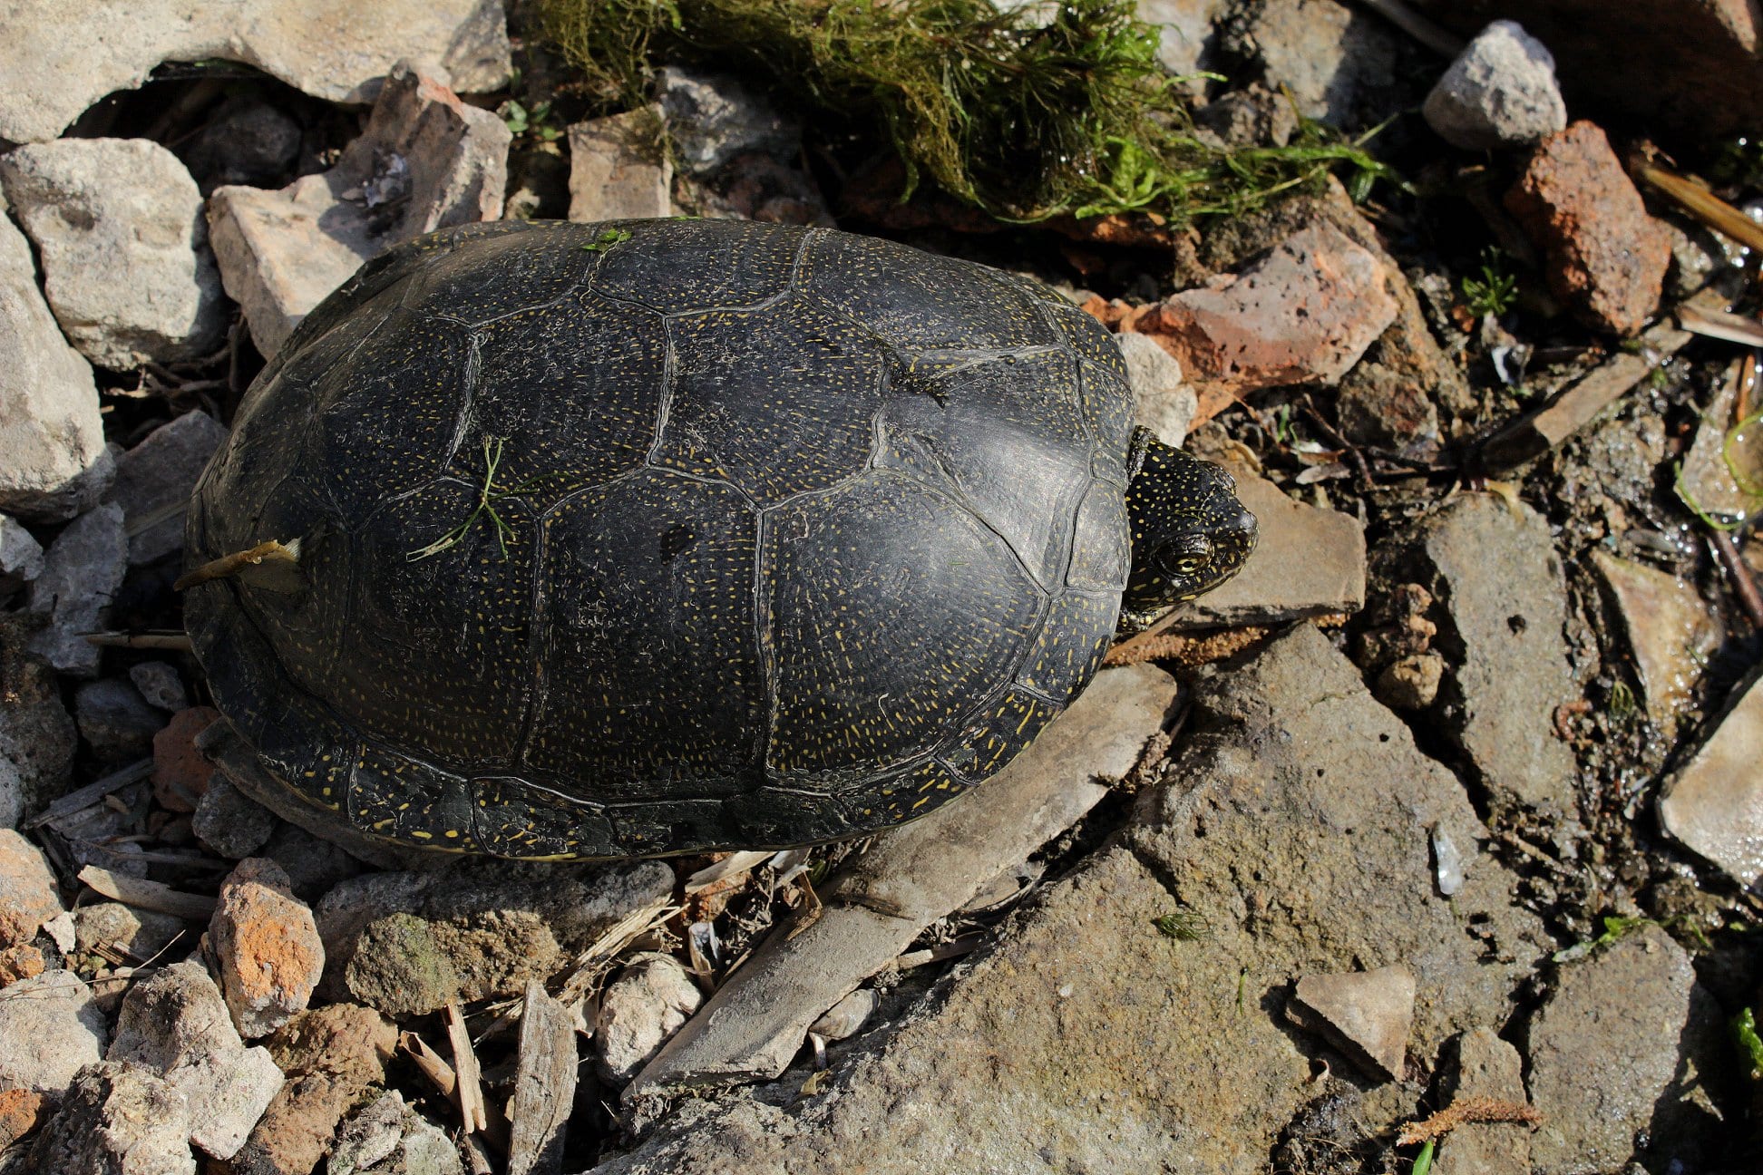
[[[776,79],[827,120],[880,129],[906,166],[1001,220],[1239,213],[1359,146],[1303,122],[1283,148],[1201,141],[1135,0],[1000,12],[991,0],[539,0],[543,33],[605,109],[636,106],[665,53]],[[1363,187],[1363,185],[1358,185]]]

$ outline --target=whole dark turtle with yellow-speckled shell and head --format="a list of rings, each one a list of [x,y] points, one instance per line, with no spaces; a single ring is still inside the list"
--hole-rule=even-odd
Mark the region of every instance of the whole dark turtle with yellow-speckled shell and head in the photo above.
[[[531,220],[398,245],[298,324],[180,587],[309,816],[633,858],[934,810],[1253,544],[1037,280],[829,227]]]

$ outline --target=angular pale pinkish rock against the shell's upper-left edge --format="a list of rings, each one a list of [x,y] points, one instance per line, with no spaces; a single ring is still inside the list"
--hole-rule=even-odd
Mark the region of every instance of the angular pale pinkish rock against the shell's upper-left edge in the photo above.
[[[279,192],[215,188],[208,224],[226,292],[266,358],[363,261],[413,236],[502,215],[508,127],[397,65],[337,166]]]

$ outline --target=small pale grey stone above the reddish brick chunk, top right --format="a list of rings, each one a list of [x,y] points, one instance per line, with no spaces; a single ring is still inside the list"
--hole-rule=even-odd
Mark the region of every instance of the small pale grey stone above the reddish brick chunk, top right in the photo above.
[[[1567,125],[1555,58],[1516,21],[1493,21],[1451,62],[1421,107],[1451,146],[1530,146]]]

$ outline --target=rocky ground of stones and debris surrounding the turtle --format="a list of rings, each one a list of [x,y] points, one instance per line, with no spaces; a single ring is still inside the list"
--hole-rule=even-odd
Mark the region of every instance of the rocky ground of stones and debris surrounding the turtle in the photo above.
[[[0,1171],[1758,1170],[1745,5],[1141,0],[1206,134],[1389,120],[1403,183],[1063,233],[703,63],[568,120],[495,0],[14,9]],[[391,243],[681,211],[1056,284],[1261,551],[866,844],[437,865],[259,807],[171,588],[250,379]]]

